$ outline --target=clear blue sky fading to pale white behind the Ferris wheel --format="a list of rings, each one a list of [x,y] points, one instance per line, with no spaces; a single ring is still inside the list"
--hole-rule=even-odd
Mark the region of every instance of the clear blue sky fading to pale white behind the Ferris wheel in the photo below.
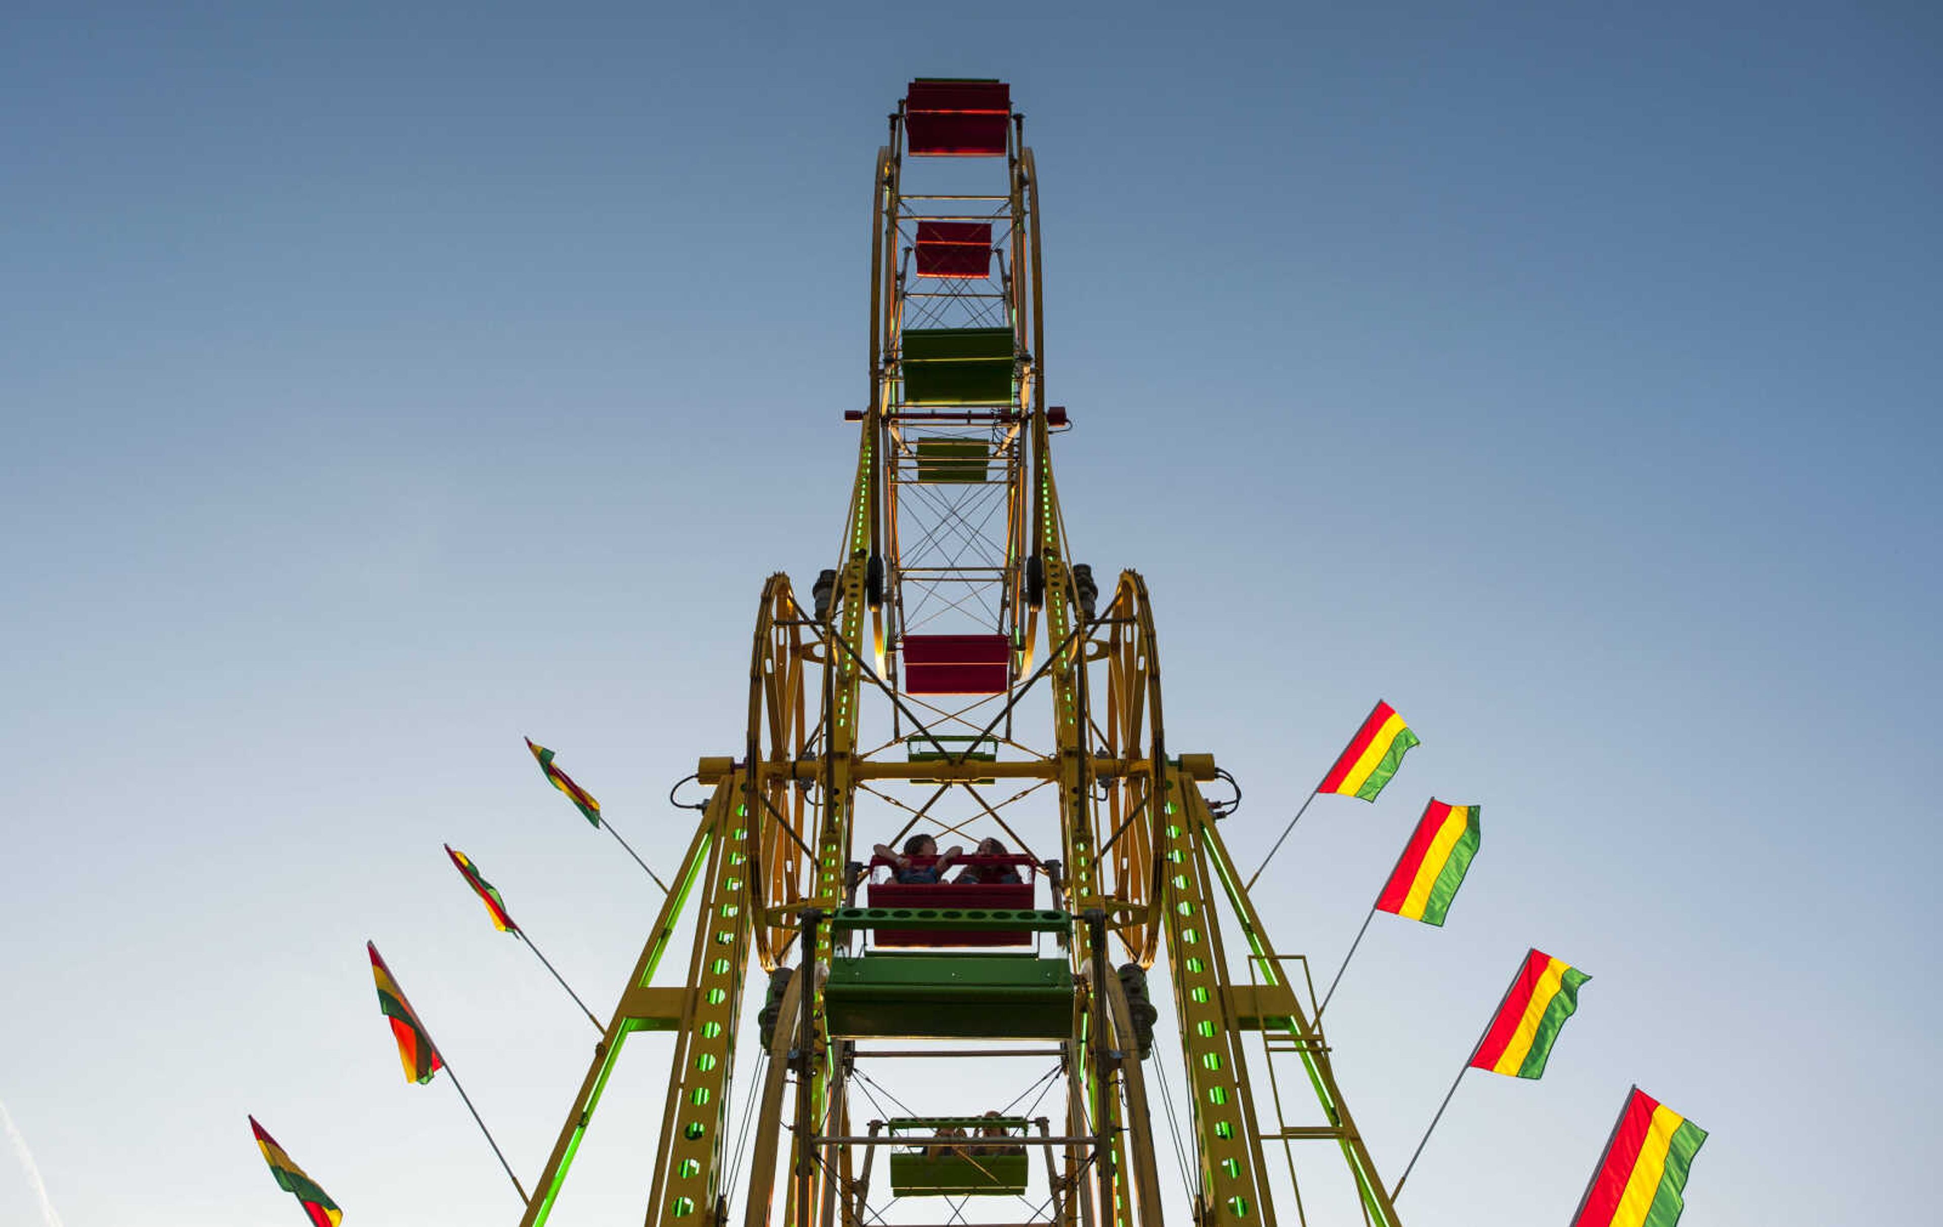
[[[361,944],[534,1171],[589,1027],[439,843],[604,1011],[655,897],[519,738],[668,864],[762,579],[835,551],[919,74],[1028,115],[1073,540],[1242,860],[1376,697],[1424,738],[1312,808],[1280,944],[1484,804],[1331,1008],[1383,1169],[1529,944],[1595,977],[1409,1219],[1564,1223],[1632,1081],[1714,1134],[1692,1227],[1927,1217],[1937,12],[1049,8],[6,6],[0,1103],[60,1221],[299,1221],[245,1112],[356,1227],[515,1221]],[[563,1227],[639,1221],[663,1074]]]

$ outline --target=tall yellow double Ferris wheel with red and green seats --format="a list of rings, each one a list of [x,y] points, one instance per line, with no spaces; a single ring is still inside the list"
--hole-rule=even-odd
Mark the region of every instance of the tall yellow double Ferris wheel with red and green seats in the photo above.
[[[970,159],[960,181],[993,167],[993,190],[909,190],[907,169],[935,159]],[[672,1039],[649,1225],[859,1227],[894,1202],[894,1221],[979,1221],[977,1204],[1045,1227],[1249,1227],[1308,1223],[1304,1192],[1337,1180],[1366,1223],[1395,1227],[1302,963],[1271,944],[1201,792],[1214,759],[1166,746],[1146,586],[1127,571],[1102,600],[1071,559],[1040,181],[1003,82],[917,80],[890,116],[869,338],[835,565],[808,602],[783,575],[764,586],[748,734],[699,763],[713,792],[676,889],[523,1227],[548,1221],[637,1031]],[[954,881],[917,835],[970,846],[977,881]],[[878,843],[898,856],[869,854]],[[657,986],[684,918],[688,973]],[[1156,965],[1177,1045],[1154,1027]],[[767,977],[754,1025],[752,967]],[[738,1054],[738,1039],[754,1043]],[[1185,1070],[1179,1194],[1156,1163],[1156,1048]],[[1302,1068],[1312,1124],[1282,1118],[1306,1097],[1284,1095],[1277,1056]],[[911,1058],[962,1062],[968,1095],[1034,1068],[1043,1089],[1018,1112],[886,1116]],[[760,1079],[748,1120],[731,1120],[738,1068]],[[746,1155],[725,1145],[731,1126]],[[1312,1163],[1313,1142],[1343,1161]]]

